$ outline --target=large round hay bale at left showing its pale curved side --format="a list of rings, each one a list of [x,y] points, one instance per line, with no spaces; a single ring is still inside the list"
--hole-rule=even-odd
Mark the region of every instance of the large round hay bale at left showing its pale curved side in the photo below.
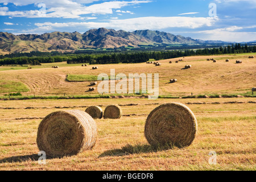
[[[56,111],[38,127],[36,143],[47,156],[76,155],[96,143],[97,126],[89,114],[80,110]]]

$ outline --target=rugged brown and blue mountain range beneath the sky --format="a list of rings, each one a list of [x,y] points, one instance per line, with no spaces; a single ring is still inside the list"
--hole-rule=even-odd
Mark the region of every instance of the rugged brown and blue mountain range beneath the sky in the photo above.
[[[20,34],[14,35],[0,32],[0,53],[30,52],[30,51],[73,51],[84,48],[118,48],[123,46],[138,47],[138,45],[152,44],[203,44],[210,43],[199,39],[185,38],[167,32],[123,30],[98,28],[79,32],[51,32],[42,35]],[[220,41],[214,43],[223,43]]]

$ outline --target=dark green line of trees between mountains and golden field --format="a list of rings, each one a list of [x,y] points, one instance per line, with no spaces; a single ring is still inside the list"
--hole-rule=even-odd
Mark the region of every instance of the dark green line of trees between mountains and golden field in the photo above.
[[[41,53],[31,52],[15,53],[9,57],[7,55],[2,56],[0,59],[0,65],[13,65],[13,64],[30,64],[40,65],[41,63],[56,63],[67,61],[68,64],[77,63],[89,63],[89,64],[118,64],[118,63],[143,63],[150,59],[162,60],[172,59],[175,57],[183,56],[195,56],[195,55],[218,55],[227,53],[248,53],[256,52],[256,46],[247,46],[245,44],[232,44],[231,46],[219,47],[219,48],[204,48],[204,49],[187,49],[187,50],[175,50],[175,51],[148,51],[148,52],[123,52],[123,53],[93,53],[93,54],[72,54],[72,53]],[[54,56],[53,56],[54,55]],[[31,56],[31,57],[28,57]]]

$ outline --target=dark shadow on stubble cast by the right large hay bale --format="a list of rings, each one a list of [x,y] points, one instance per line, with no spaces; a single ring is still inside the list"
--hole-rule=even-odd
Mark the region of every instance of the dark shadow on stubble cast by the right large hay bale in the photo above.
[[[107,150],[103,152],[98,158],[103,158],[105,156],[123,156],[123,155],[132,155],[132,154],[143,154],[150,152],[158,152],[164,150],[171,150],[174,146],[166,144],[165,146],[151,146],[149,144],[127,144],[126,146],[118,149]]]

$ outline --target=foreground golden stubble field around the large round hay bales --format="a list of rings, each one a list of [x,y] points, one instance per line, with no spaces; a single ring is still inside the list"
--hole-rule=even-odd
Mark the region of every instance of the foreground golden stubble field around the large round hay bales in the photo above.
[[[199,130],[187,148],[156,150],[144,137],[147,115],[167,102],[186,104],[196,115]],[[92,150],[38,164],[36,133],[43,117],[57,110],[85,110],[89,105],[104,109],[109,103],[121,105],[124,116],[96,119],[98,137]],[[1,170],[256,169],[254,98],[1,101],[0,113]],[[217,153],[216,165],[208,163],[210,151]]]

